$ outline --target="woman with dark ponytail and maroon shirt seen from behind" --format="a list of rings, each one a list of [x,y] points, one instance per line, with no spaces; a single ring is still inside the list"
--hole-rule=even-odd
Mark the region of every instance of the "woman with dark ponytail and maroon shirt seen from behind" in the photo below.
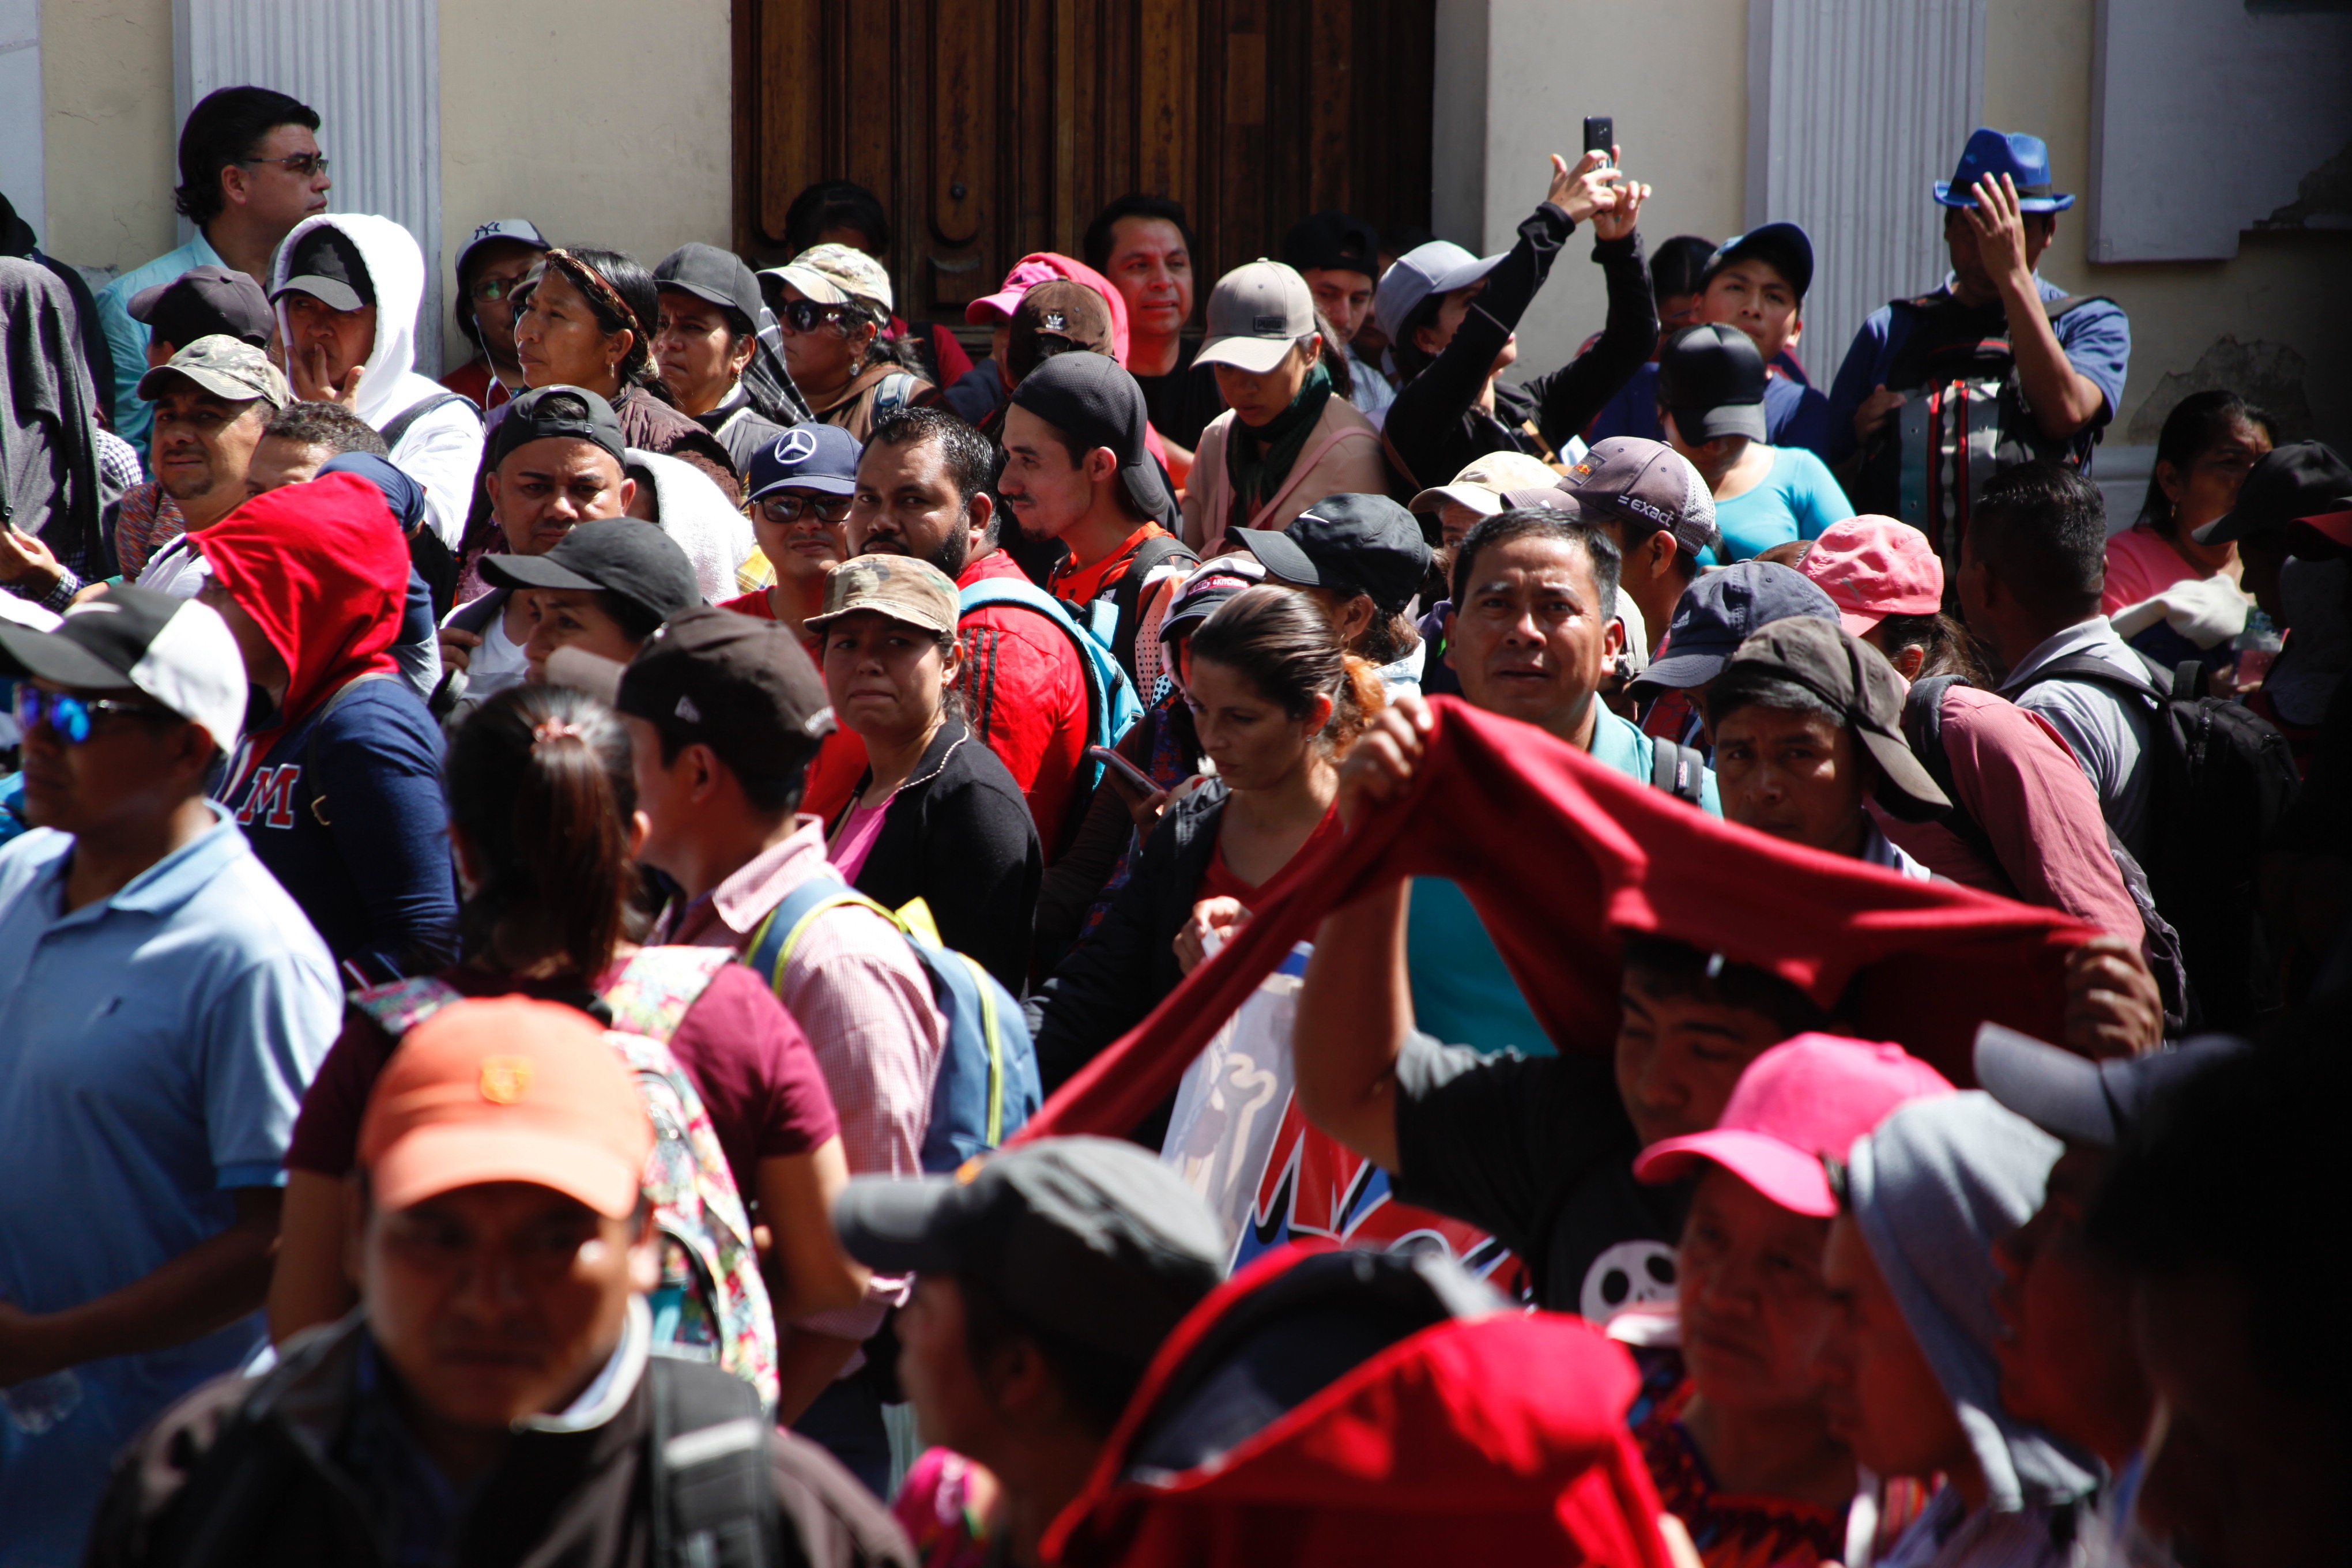
[[[800,1025],[741,964],[680,964],[703,950],[630,940],[642,924],[633,858],[642,818],[621,722],[567,686],[510,686],[456,729],[442,788],[466,893],[466,957],[435,990],[564,1001],[604,1025],[621,1004],[623,1023],[647,1034],[656,1027],[644,1018],[668,1020],[670,1056],[710,1114],[753,1225],[767,1232],[762,1272],[779,1326],[856,1305],[863,1284],[828,1220],[849,1166]],[[400,1044],[379,1023],[386,990],[353,997],[294,1124],[268,1298],[278,1342],[353,1305],[343,1187],[367,1093]],[[656,994],[668,1006],[649,1004]]]

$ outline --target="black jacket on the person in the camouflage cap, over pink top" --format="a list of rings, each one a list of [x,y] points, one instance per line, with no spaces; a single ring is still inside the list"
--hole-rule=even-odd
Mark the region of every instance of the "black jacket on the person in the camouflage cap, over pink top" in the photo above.
[[[870,771],[858,778],[858,795],[870,780]],[[922,898],[938,940],[978,959],[1018,997],[1040,877],[1044,851],[1021,785],[985,741],[950,717],[891,797],[856,889],[891,910]]]

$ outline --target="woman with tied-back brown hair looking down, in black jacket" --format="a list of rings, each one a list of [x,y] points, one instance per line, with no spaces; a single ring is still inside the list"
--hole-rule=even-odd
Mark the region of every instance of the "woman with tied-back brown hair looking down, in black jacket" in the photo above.
[[[1047,1093],[1176,990],[1211,924],[1270,898],[1338,837],[1338,757],[1385,701],[1374,668],[1291,588],[1232,595],[1181,658],[1216,776],[1167,809],[1103,924],[1030,1004]]]

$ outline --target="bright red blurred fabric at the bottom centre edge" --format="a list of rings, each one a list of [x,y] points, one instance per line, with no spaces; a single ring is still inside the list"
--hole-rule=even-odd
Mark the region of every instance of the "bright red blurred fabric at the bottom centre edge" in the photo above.
[[[1632,1359],[1552,1312],[1423,1328],[1211,1462],[1122,1479],[1152,1418],[1202,1392],[1204,1368],[1188,1366],[1202,1342],[1305,1255],[1263,1258],[1176,1326],[1087,1488],[1047,1528],[1044,1561],[1668,1568],[1658,1493],[1625,1427],[1639,1387]],[[1211,1345],[1200,1359],[1221,1356]]]

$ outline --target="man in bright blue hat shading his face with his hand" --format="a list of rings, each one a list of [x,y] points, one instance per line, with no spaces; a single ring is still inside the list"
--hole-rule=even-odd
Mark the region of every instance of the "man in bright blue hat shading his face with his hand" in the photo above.
[[[1879,306],[1853,334],[1830,386],[1825,451],[1832,465],[1858,458],[1846,480],[1856,508],[1931,531],[1933,515],[1905,512],[1900,458],[1917,454],[1900,447],[1917,440],[1907,425],[1919,423],[1917,404],[1933,390],[1952,378],[1999,381],[2013,371],[2018,397],[2002,402],[2023,407],[2002,409],[2009,421],[2002,430],[1976,433],[1973,447],[1997,451],[1990,465],[1971,465],[1983,468],[1969,480],[1973,498],[1997,468],[2032,456],[2067,456],[2089,470],[2098,433],[2124,402],[2131,364],[2131,320],[2122,306],[2067,301],[2065,289],[2034,270],[2058,233],[2058,214],[2074,205],[2072,195],[2051,190],[2049,148],[2039,136],[1978,129],[1959,169],[1936,181],[1933,195],[1943,205],[1952,273],[1933,294]],[[1915,404],[1915,416],[1900,414],[1905,404]],[[1990,414],[1985,400],[1978,411]],[[1945,555],[1950,559],[1952,550]]]

